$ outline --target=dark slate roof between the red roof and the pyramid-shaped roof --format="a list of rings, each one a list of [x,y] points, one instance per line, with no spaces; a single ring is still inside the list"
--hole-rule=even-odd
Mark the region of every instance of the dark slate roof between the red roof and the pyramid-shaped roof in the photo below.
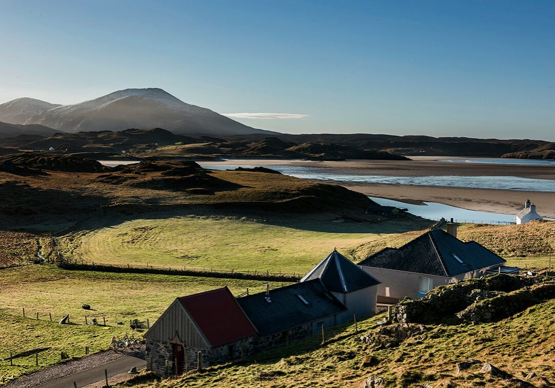
[[[271,302],[266,301],[265,292],[236,299],[261,336],[280,333],[346,310],[319,279],[270,289],[269,294]]]

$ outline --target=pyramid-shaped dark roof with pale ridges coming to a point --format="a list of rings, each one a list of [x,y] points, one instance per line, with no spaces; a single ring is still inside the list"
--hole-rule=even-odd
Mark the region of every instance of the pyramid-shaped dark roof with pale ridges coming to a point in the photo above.
[[[335,249],[312,268],[301,282],[312,279],[320,279],[329,291],[345,293],[381,283]]]

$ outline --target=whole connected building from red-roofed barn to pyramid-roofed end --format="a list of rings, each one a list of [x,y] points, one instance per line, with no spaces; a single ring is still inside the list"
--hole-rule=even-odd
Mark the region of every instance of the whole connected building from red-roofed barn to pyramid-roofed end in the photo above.
[[[145,333],[158,375],[242,358],[376,311],[380,282],[335,251],[299,283],[233,297],[227,287],[181,297]]]

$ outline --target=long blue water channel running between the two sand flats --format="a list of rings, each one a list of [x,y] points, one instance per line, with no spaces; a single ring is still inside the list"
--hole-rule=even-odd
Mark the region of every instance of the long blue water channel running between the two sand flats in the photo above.
[[[206,169],[234,170],[239,165],[203,165]],[[252,168],[255,165],[241,165],[241,167]],[[490,188],[497,190],[517,191],[555,191],[555,180],[522,178],[518,176],[384,176],[384,175],[352,175],[338,173],[336,169],[327,167],[303,167],[303,166],[267,166],[270,169],[297,178],[346,182],[346,183],[380,183],[386,185],[415,185],[415,186],[440,186],[440,187],[467,187],[467,188]]]

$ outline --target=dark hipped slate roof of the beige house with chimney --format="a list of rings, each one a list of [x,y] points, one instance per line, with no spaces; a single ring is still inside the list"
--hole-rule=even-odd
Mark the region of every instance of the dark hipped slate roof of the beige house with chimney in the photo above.
[[[361,261],[359,266],[452,277],[504,262],[503,258],[475,241],[462,242],[437,229],[400,248],[382,249]]]

